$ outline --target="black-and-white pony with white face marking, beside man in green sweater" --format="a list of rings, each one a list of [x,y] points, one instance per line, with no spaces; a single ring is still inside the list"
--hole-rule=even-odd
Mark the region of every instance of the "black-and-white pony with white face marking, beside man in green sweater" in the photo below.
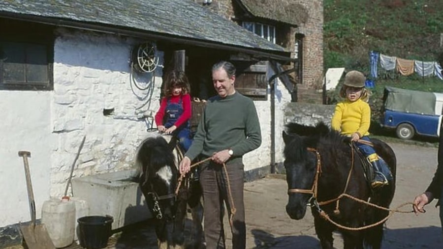
[[[136,162],[141,169],[139,186],[156,220],[158,248],[202,248],[200,184],[186,177],[175,194],[180,176],[178,163],[183,151],[175,145],[175,139],[168,143],[165,138],[170,139],[170,136],[146,138],[136,153]],[[185,238],[187,205],[191,209],[194,227],[190,229],[190,238]]]

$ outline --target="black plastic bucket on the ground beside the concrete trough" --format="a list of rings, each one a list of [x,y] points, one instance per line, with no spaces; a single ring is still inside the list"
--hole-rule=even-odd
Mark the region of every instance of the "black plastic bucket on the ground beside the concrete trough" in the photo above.
[[[111,216],[85,216],[77,220],[80,246],[87,249],[100,249],[108,245],[111,236]]]

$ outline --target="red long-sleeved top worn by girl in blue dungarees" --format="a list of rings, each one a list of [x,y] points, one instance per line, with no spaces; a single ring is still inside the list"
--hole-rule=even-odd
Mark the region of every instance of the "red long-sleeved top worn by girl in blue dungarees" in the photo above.
[[[166,106],[168,104],[167,101],[168,98],[171,103],[179,103],[180,98],[182,99],[183,114],[177,119],[177,121],[174,124],[176,127],[180,127],[191,117],[190,95],[185,94],[178,96],[163,97],[160,102],[160,108],[158,109],[155,116],[157,126],[163,125],[163,117],[166,114]]]

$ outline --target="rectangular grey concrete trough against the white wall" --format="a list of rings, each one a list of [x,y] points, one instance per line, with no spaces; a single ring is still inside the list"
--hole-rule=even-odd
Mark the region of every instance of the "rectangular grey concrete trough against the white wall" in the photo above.
[[[74,196],[86,200],[89,215],[114,218],[112,229],[152,218],[145,198],[132,180],[135,170],[83,176],[72,179]]]

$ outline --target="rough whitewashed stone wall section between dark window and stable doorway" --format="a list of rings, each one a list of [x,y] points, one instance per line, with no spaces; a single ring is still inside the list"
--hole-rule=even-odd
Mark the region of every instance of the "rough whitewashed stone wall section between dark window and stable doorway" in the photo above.
[[[56,40],[51,128],[58,146],[52,153],[51,196],[63,195],[83,136],[74,177],[133,166],[135,148],[148,135],[138,117],[158,110],[162,76],[162,58],[154,74],[131,70],[134,43],[80,32],[63,32]],[[152,96],[134,82],[154,84]],[[114,111],[104,115],[104,110]]]

